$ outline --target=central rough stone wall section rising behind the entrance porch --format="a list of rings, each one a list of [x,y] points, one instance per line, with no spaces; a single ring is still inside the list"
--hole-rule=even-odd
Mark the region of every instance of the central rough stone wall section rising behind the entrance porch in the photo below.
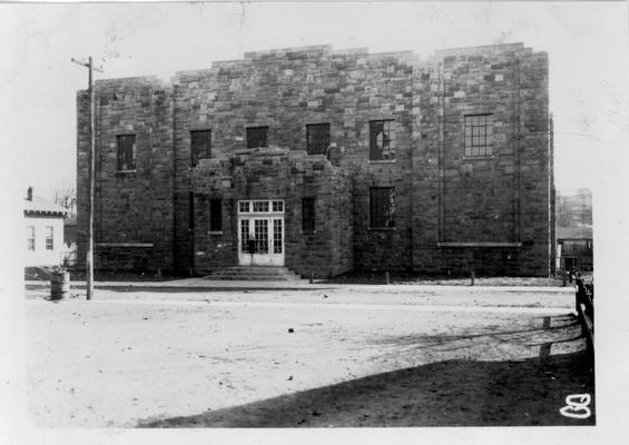
[[[246,127],[268,126],[269,145],[304,150],[306,125],[328,122],[333,165],[355,178],[354,267],[409,269],[411,265],[411,105],[409,52],[333,52],[330,47],[245,55],[212,69],[179,72],[175,86],[177,245],[189,225],[190,131],[212,130],[213,156],[246,147]],[[370,162],[368,122],[392,119],[396,160]],[[287,181],[297,180],[289,175]],[[368,227],[370,187],[395,187],[396,227]],[[262,190],[258,198],[265,198]],[[335,205],[327,205],[331,210]],[[196,226],[197,222],[194,222]],[[287,246],[287,254],[291,247]],[[186,247],[188,248],[188,247]]]

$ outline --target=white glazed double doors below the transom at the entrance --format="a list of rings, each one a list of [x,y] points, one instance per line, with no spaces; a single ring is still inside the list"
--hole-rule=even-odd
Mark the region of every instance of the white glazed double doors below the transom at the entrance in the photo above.
[[[284,266],[284,217],[238,217],[238,264]]]

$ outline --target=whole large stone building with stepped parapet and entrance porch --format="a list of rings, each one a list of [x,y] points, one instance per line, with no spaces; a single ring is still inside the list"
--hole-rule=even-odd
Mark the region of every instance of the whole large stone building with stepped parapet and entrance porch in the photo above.
[[[553,264],[546,52],[307,47],[95,88],[99,268],[546,276]],[[87,91],[77,107],[83,234]]]

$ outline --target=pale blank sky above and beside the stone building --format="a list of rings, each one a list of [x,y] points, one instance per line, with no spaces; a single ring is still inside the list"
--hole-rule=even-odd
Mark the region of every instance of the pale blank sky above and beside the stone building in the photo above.
[[[75,97],[88,73],[71,58],[92,56],[105,70],[96,79],[169,79],[252,50],[332,44],[425,59],[524,42],[549,53],[556,184],[571,194],[596,188],[627,134],[627,20],[622,2],[0,4],[0,160],[22,192],[51,198],[76,184]]]

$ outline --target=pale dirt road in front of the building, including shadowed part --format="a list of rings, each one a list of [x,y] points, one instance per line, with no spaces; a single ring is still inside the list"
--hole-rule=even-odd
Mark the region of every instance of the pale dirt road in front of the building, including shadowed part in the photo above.
[[[593,392],[567,294],[135,290],[30,294],[35,424],[569,425]]]

